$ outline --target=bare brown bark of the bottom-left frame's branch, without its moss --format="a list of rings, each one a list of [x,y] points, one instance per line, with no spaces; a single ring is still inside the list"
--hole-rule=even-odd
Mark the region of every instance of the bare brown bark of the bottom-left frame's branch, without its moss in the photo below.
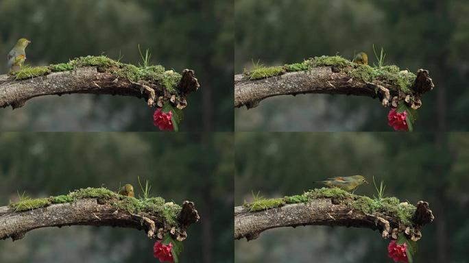
[[[192,202],[185,201],[179,216],[179,223],[185,228],[199,219]],[[111,227],[130,227],[144,229],[149,238],[154,238],[164,223],[158,221],[156,214],[131,214],[119,210],[108,203],[101,204],[97,199],[78,199],[72,203],[49,205],[25,212],[14,212],[8,206],[0,207],[0,239],[18,240],[28,231],[40,227],[62,227],[64,225],[93,225]]]

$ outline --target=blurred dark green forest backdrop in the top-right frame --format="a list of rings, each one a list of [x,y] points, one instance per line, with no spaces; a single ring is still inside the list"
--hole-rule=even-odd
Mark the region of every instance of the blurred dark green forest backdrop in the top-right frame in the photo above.
[[[301,62],[320,55],[352,59],[372,45],[385,64],[430,71],[416,131],[469,129],[469,1],[466,0],[235,0],[234,72]],[[235,129],[272,131],[392,131],[389,108],[377,99],[298,95],[265,99],[235,110]],[[437,125],[436,118],[444,120]]]

